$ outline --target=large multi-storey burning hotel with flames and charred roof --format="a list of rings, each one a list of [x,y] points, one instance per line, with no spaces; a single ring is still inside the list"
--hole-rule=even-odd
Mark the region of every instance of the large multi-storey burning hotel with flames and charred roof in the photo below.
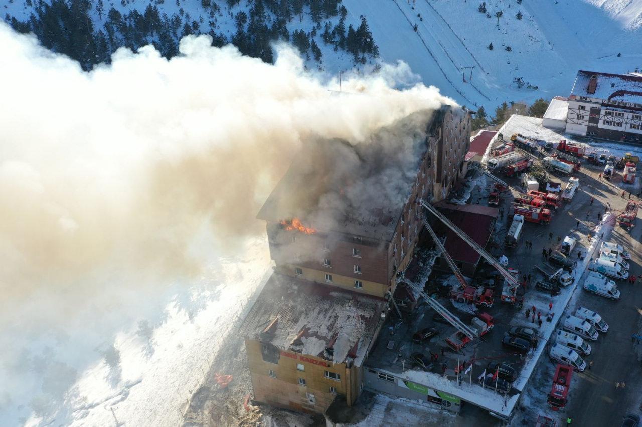
[[[317,413],[356,401],[422,228],[417,202],[446,197],[470,132],[470,114],[444,105],[302,149],[258,215],[275,271],[241,326],[256,401]]]

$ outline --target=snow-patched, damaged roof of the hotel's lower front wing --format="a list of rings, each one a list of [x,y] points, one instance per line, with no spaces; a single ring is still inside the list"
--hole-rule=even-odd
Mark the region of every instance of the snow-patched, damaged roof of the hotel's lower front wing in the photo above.
[[[360,365],[386,301],[336,287],[272,274],[240,333],[249,339],[324,357],[335,364],[353,358]]]

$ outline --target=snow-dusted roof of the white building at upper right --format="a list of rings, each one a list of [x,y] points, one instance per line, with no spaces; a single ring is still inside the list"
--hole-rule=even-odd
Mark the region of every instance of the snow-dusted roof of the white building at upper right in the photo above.
[[[589,93],[589,81],[595,76],[595,93]],[[611,74],[608,72],[577,72],[571,95],[600,99],[616,99],[629,103],[642,103],[642,77],[632,74]]]

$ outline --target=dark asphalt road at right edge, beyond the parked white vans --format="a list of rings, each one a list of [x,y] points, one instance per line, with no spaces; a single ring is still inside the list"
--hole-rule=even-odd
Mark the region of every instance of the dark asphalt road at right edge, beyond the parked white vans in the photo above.
[[[609,201],[615,210],[621,210],[627,203],[620,197],[621,190],[600,181],[596,181],[592,192],[596,197],[594,206]],[[630,272],[638,276],[642,274],[642,219],[638,218],[636,223],[632,233],[615,226],[609,240],[629,249]],[[593,368],[573,378],[566,414],[573,419],[574,426],[615,426],[629,412],[640,414],[642,367],[638,353],[642,344],[634,346],[631,335],[641,328],[642,292],[637,289],[639,285],[629,285],[627,281],[621,281],[618,287],[621,297],[615,302],[577,291],[582,292],[577,305],[600,313],[610,328],[608,333],[600,334],[595,344],[591,343],[593,352],[586,359],[593,361]],[[625,389],[616,390],[616,382],[624,382]]]

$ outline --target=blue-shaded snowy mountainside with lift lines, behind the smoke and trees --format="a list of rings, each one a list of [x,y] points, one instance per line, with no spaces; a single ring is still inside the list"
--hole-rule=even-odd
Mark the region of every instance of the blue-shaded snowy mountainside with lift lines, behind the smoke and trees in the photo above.
[[[21,21],[29,18],[29,0],[5,3],[4,13]],[[31,1],[29,1],[31,3]],[[121,13],[147,3],[105,2]],[[164,1],[161,13],[169,17],[184,10],[182,22],[197,20],[200,31],[214,29],[228,39],[235,31],[233,15],[248,10],[251,2],[241,1],[232,8],[216,0],[220,10],[209,15],[198,1]],[[539,97],[550,99],[569,93],[578,69],[605,72],[634,71],[642,64],[639,40],[642,37],[642,0],[558,0],[486,1],[487,17],[480,13],[481,1],[461,0],[343,0],[348,10],[345,22],[353,26],[360,16],[368,19],[370,30],[387,63],[402,60],[426,85],[439,87],[443,94],[462,105],[483,105],[492,111],[503,101],[530,102]],[[35,3],[33,3],[35,4]],[[495,12],[503,11],[498,19]],[[521,12],[522,19],[517,19]],[[101,26],[96,8],[94,24]],[[189,14],[189,18],[188,17]],[[104,18],[104,16],[103,16]],[[334,25],[338,17],[328,19]],[[191,22],[191,21],[190,21]],[[211,22],[211,23],[210,23]],[[417,31],[413,29],[417,25]],[[309,13],[288,24],[310,31]],[[324,44],[318,31],[315,40],[322,49],[321,63],[308,60],[308,67],[336,74],[346,69],[368,69],[374,64],[355,65],[350,54]],[[493,49],[487,46],[492,43]],[[510,46],[510,51],[506,47]],[[618,56],[618,54],[621,54]],[[473,67],[471,69],[462,67]],[[525,85],[517,87],[515,78]],[[412,83],[412,82],[408,82]],[[528,85],[531,85],[529,88]],[[535,88],[537,87],[537,88]]]

